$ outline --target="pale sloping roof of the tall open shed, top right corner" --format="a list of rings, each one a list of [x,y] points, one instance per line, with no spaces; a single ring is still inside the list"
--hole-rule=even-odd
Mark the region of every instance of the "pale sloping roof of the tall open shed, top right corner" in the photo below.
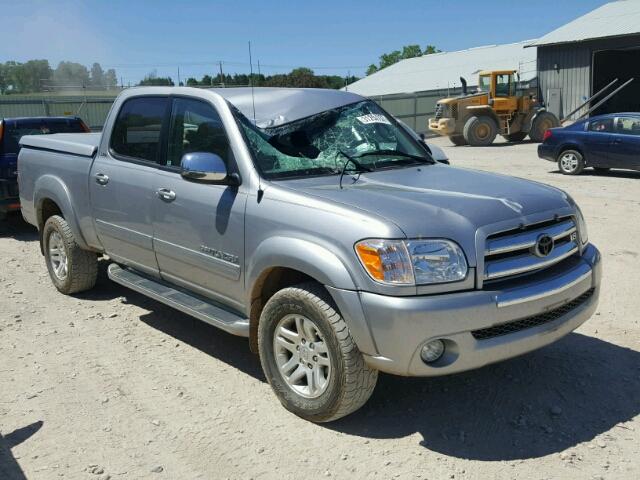
[[[547,33],[531,46],[581,42],[640,33],[640,0],[618,0]]]

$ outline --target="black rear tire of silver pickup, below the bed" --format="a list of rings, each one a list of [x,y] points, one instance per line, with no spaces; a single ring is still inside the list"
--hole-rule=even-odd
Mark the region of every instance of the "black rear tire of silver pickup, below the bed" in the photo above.
[[[55,242],[55,245],[52,243]],[[44,251],[49,277],[60,293],[69,295],[93,288],[98,278],[98,256],[81,249],[75,241],[66,220],[59,215],[49,217],[42,229],[42,249]],[[52,251],[50,247],[57,247]],[[56,257],[56,253],[58,257]],[[64,255],[66,260],[55,262],[52,258]],[[54,265],[64,262],[64,272]],[[64,275],[63,275],[64,273]]]

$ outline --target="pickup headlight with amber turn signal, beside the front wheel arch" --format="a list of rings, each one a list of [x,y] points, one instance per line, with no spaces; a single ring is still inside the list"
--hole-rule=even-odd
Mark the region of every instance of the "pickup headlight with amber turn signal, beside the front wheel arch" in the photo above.
[[[363,240],[355,250],[367,273],[380,283],[424,285],[467,276],[464,253],[450,240]]]

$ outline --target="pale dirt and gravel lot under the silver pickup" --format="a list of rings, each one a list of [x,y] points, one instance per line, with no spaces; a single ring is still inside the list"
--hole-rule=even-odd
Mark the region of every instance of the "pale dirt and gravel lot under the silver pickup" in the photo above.
[[[329,425],[289,414],[247,342],[106,279],[65,297],[37,234],[0,226],[0,478],[640,477],[640,173],[570,178],[534,144],[445,147],[458,166],[567,190],[604,257],[596,315],[452,377],[381,376]]]

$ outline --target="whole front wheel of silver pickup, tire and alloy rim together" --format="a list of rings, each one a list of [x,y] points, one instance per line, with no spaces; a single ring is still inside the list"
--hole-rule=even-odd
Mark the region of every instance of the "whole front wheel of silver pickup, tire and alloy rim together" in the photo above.
[[[269,299],[260,316],[258,350],[278,400],[313,422],[359,409],[378,378],[326,290],[315,283],[285,288]]]

